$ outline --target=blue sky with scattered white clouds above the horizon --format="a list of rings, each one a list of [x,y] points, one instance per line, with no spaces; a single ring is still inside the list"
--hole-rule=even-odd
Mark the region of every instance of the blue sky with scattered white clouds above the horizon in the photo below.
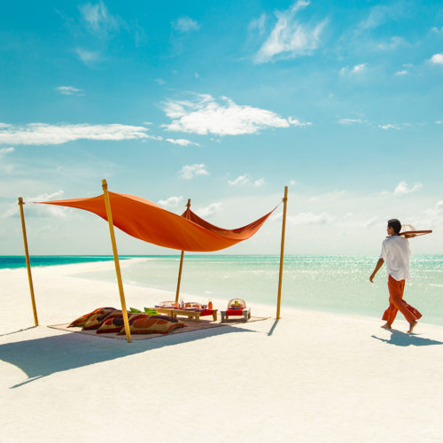
[[[109,190],[234,229],[289,187],[286,253],[443,253],[441,1],[8,2],[0,254],[109,254]],[[282,209],[223,253],[279,253]],[[118,232],[121,254],[171,254]]]

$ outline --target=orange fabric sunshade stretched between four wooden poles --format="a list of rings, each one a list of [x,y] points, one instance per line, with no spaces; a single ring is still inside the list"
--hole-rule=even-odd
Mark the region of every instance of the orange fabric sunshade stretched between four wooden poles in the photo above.
[[[109,192],[113,224],[129,236],[153,245],[180,251],[220,251],[253,237],[276,208],[259,220],[238,229],[221,229],[187,210],[183,216],[141,197]],[[46,205],[70,206],[97,214],[107,221],[104,195],[91,198],[41,201]]]

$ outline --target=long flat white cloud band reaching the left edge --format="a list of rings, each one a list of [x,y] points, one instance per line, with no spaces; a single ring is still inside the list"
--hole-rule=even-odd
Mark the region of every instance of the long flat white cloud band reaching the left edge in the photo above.
[[[26,126],[0,124],[0,144],[64,144],[74,140],[135,140],[148,136],[143,126],[111,125],[50,125],[30,123]]]

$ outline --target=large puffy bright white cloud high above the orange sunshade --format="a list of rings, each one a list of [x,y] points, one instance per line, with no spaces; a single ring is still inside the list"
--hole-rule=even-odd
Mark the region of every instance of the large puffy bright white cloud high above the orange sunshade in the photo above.
[[[170,131],[200,135],[237,136],[256,134],[262,128],[289,128],[304,126],[299,120],[284,119],[278,114],[248,105],[237,105],[228,97],[221,97],[220,104],[207,94],[196,94],[191,100],[169,100],[164,106],[167,117],[172,119],[163,125]]]

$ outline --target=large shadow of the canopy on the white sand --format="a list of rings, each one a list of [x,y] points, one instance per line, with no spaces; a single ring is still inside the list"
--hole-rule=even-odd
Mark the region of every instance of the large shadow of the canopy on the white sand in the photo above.
[[[82,368],[90,364],[141,354],[201,338],[239,332],[256,331],[227,325],[211,330],[195,330],[190,333],[139,340],[131,343],[130,346],[124,340],[64,333],[0,345],[0,360],[11,363],[27,375],[28,378],[23,383],[11,386],[11,388],[17,388],[57,372]]]

